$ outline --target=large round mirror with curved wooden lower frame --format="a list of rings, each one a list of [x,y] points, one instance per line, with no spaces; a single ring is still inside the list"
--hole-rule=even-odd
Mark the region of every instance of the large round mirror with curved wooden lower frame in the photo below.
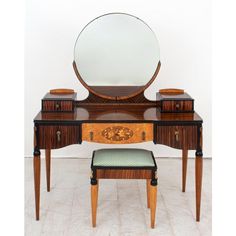
[[[157,76],[159,44],[151,28],[139,18],[106,14],[80,32],[73,66],[90,92],[108,99],[126,99],[143,92]]]

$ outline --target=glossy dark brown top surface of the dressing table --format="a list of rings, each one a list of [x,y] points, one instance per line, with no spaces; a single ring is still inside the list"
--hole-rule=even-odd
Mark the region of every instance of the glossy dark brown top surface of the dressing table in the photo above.
[[[90,123],[90,122],[171,122],[171,123],[202,123],[202,118],[196,113],[160,113],[156,107],[146,106],[83,106],[75,112],[39,112],[35,123]]]

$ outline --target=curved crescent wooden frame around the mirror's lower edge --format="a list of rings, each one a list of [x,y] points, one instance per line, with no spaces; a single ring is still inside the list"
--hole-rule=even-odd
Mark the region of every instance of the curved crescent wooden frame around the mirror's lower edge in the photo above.
[[[77,78],[79,79],[81,84],[86,89],[88,89],[90,93],[95,94],[96,96],[104,99],[115,100],[115,101],[129,99],[138,94],[143,93],[144,90],[146,90],[157,77],[160,67],[161,67],[161,62],[159,61],[152,78],[146,85],[143,86],[89,86],[80,76],[76,63],[75,61],[73,61],[73,68]],[[117,94],[117,95],[112,96],[112,94]]]

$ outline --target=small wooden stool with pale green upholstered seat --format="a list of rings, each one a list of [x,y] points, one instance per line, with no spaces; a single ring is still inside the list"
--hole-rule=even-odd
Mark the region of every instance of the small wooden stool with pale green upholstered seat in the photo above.
[[[143,149],[100,149],[91,163],[92,226],[96,227],[99,179],[146,179],[147,207],[155,226],[157,165],[151,151]]]

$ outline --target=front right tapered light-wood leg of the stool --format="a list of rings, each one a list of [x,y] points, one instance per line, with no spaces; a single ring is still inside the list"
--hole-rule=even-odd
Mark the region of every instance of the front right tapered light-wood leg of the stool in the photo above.
[[[155,227],[156,204],[157,204],[157,180],[151,180],[150,186],[150,213],[151,213],[151,228]]]

